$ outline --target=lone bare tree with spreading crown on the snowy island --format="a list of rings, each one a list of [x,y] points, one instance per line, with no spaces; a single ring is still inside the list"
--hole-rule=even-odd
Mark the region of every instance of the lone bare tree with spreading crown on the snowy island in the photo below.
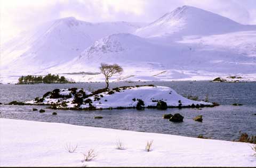
[[[103,73],[103,75],[105,75],[106,78],[106,89],[108,89],[109,87],[109,78],[111,78],[113,76],[113,74],[116,73],[122,73],[123,72],[123,68],[117,64],[113,64],[113,65],[109,65],[109,64],[105,64],[105,63],[101,63],[100,64],[100,71],[101,73]]]

